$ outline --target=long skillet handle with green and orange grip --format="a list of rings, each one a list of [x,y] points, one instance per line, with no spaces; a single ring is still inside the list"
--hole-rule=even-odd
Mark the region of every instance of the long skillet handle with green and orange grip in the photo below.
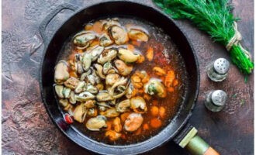
[[[190,124],[185,126],[182,132],[175,137],[174,141],[192,155],[220,155],[220,153],[197,135],[197,129]]]

